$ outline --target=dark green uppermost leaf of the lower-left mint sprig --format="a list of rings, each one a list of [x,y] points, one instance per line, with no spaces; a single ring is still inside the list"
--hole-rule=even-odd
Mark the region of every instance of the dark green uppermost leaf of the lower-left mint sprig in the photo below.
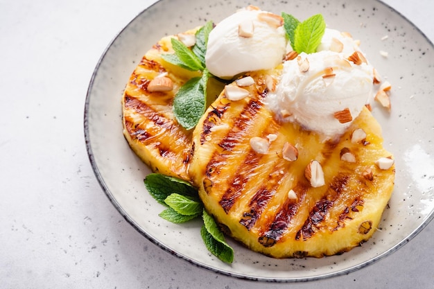
[[[157,202],[166,205],[164,200],[172,193],[198,198],[198,191],[189,182],[176,177],[168,177],[159,173],[151,173],[144,179],[146,189]]]

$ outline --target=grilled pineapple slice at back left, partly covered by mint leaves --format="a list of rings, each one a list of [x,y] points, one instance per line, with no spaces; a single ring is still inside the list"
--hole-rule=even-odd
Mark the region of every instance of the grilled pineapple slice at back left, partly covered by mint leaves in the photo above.
[[[171,37],[176,36],[163,37],[144,55],[125,86],[123,134],[132,150],[154,172],[189,180],[192,132],[177,123],[172,102],[178,89],[190,78],[200,76],[200,72],[182,69],[162,59],[163,53],[173,53]]]

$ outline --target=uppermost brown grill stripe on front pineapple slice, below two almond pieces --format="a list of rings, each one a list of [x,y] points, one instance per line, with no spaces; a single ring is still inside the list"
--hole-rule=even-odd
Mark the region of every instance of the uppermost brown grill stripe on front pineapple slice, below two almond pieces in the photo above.
[[[246,128],[254,123],[254,116],[259,112],[261,107],[262,105],[258,100],[250,100],[250,102],[245,105],[241,114],[236,117],[232,130],[218,143],[218,146],[229,152],[232,151],[236,144],[244,138]]]

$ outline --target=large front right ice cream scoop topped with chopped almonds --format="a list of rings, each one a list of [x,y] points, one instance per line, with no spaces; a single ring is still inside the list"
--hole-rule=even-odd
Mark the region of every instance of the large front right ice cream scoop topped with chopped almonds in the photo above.
[[[370,100],[372,71],[369,64],[354,64],[342,53],[300,53],[284,62],[268,105],[282,121],[295,121],[324,139],[333,139],[345,132]]]

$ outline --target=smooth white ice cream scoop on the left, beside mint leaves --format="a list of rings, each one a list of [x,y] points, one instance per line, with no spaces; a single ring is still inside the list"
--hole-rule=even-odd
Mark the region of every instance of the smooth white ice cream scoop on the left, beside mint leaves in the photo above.
[[[280,16],[254,9],[239,10],[209,33],[205,64],[220,78],[272,69],[286,53],[286,36]]]

